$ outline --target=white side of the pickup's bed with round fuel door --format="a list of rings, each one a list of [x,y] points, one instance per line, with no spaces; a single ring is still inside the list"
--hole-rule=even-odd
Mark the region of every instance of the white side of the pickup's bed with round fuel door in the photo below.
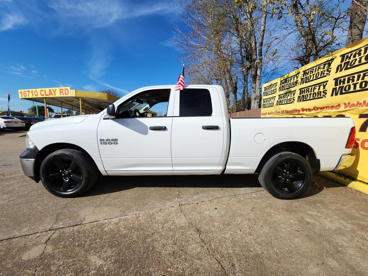
[[[346,142],[350,117],[230,118],[230,151],[225,173],[254,173],[265,154],[275,146],[294,143],[310,147],[320,170],[333,170]]]

